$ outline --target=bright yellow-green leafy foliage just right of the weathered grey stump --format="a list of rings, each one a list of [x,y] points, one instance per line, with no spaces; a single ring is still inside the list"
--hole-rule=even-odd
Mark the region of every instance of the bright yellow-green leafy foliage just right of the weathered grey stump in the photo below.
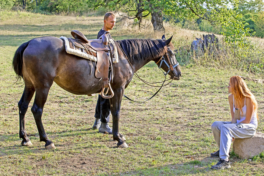
[[[242,48],[248,43],[246,37],[252,36],[254,33],[250,33],[253,30],[245,28],[248,23],[244,23],[239,18],[240,16],[236,16],[236,18],[231,18],[229,22],[224,23],[223,27],[226,31],[222,32],[222,34],[226,43]]]

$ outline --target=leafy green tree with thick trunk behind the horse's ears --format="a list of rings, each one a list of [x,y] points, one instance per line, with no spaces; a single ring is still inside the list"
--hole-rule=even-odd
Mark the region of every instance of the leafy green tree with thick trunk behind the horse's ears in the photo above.
[[[154,31],[164,31],[163,15],[186,20],[201,18],[211,24],[221,24],[233,15],[228,6],[235,4],[236,0],[97,0],[95,7],[121,10],[129,19],[142,20],[143,16],[151,15]]]

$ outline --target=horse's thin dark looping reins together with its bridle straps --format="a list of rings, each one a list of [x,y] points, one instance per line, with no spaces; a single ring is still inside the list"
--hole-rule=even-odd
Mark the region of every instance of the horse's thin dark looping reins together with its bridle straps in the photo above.
[[[122,47],[120,46],[119,43],[118,43],[118,45],[119,45],[119,47],[121,48],[121,50],[122,50],[122,52],[124,53],[124,55],[126,56],[126,53],[123,51],[123,49],[122,49]],[[163,84],[165,83],[165,81],[170,80],[170,79],[167,79],[167,80],[166,80],[166,75],[167,75],[170,71],[173,72],[173,68],[175,68],[175,67],[177,67],[177,66],[179,65],[179,62],[177,62],[177,64],[175,64],[174,66],[172,66],[171,63],[170,63],[169,57],[168,57],[168,53],[166,53],[166,56],[167,56],[167,59],[168,59],[170,65],[166,62],[166,60],[165,60],[165,58],[164,58],[164,55],[160,58],[161,62],[160,62],[160,60],[158,61],[158,62],[160,62],[159,69],[163,72],[163,74],[164,74],[164,76],[165,76],[165,79],[164,79],[164,81],[162,82],[162,85],[161,85],[161,86],[153,86],[153,85],[150,85],[150,84],[161,83],[161,82],[154,82],[154,83],[151,83],[151,82],[147,82],[147,81],[141,79],[141,78],[138,76],[138,74],[136,73],[136,70],[134,69],[134,67],[132,66],[132,64],[130,63],[128,57],[126,56],[126,59],[128,60],[129,65],[130,65],[131,68],[134,70],[134,72],[135,72],[135,74],[136,74],[136,77],[137,77],[138,79],[140,79],[142,82],[144,82],[145,84],[147,84],[147,85],[149,85],[149,86],[152,86],[152,87],[160,87],[160,88],[158,89],[158,91],[157,91],[155,94],[153,94],[152,97],[150,97],[149,99],[147,99],[147,100],[145,100],[145,101],[148,101],[148,100],[152,99],[152,98],[153,98],[153,97],[154,97],[154,96],[160,91],[160,89],[161,89],[162,87],[164,87],[164,86],[170,84],[170,83],[172,82],[172,80],[173,80],[173,79],[172,79],[169,83],[163,85]],[[155,64],[158,65],[158,62],[156,62]],[[160,68],[163,62],[167,65],[167,67],[168,67],[168,69],[169,69],[169,70],[167,71],[167,73],[165,73],[165,72]],[[176,76],[176,74],[175,74],[174,72],[173,72],[173,74]],[[148,84],[148,83],[150,83],[150,84]],[[126,95],[123,95],[123,96],[126,97],[126,98],[127,98],[128,100],[130,100],[130,101],[134,101],[134,100],[128,98]],[[134,102],[144,102],[144,101],[134,101]]]

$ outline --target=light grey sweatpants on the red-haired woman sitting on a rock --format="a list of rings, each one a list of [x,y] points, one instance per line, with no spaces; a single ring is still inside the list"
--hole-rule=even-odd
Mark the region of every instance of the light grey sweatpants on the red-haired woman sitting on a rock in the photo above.
[[[228,160],[232,138],[251,138],[255,135],[256,128],[252,123],[215,121],[211,125],[211,129],[220,150],[220,158]]]

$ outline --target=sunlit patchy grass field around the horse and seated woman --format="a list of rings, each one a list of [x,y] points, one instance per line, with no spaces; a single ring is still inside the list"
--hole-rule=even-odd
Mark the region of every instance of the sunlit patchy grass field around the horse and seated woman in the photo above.
[[[232,69],[202,67],[192,63],[181,66],[182,77],[172,81],[151,100],[135,103],[123,99],[120,132],[129,148],[117,148],[112,135],[92,130],[97,96],[74,95],[58,87],[50,89],[42,121],[55,150],[45,150],[30,111],[26,131],[32,147],[22,147],[19,138],[17,103],[23,83],[16,82],[11,63],[22,43],[40,36],[71,37],[79,30],[88,39],[97,37],[103,17],[45,16],[14,12],[0,20],[0,174],[1,175],[264,175],[263,158],[239,159],[231,149],[231,168],[211,170],[218,150],[211,132],[216,120],[229,121],[228,82],[233,75],[263,79]],[[161,38],[149,31],[139,32],[117,21],[111,31],[115,40]],[[200,32],[166,26],[174,43],[194,40]],[[197,33],[197,35],[196,35]],[[192,39],[193,37],[193,39]],[[255,39],[258,41],[258,39]],[[147,81],[163,80],[154,62],[138,71]],[[257,131],[264,133],[264,84],[246,81],[259,104]],[[145,100],[156,88],[134,78],[125,94]],[[33,97],[34,99],[34,97]],[[110,118],[111,119],[111,118]],[[110,121],[112,126],[112,121]]]

